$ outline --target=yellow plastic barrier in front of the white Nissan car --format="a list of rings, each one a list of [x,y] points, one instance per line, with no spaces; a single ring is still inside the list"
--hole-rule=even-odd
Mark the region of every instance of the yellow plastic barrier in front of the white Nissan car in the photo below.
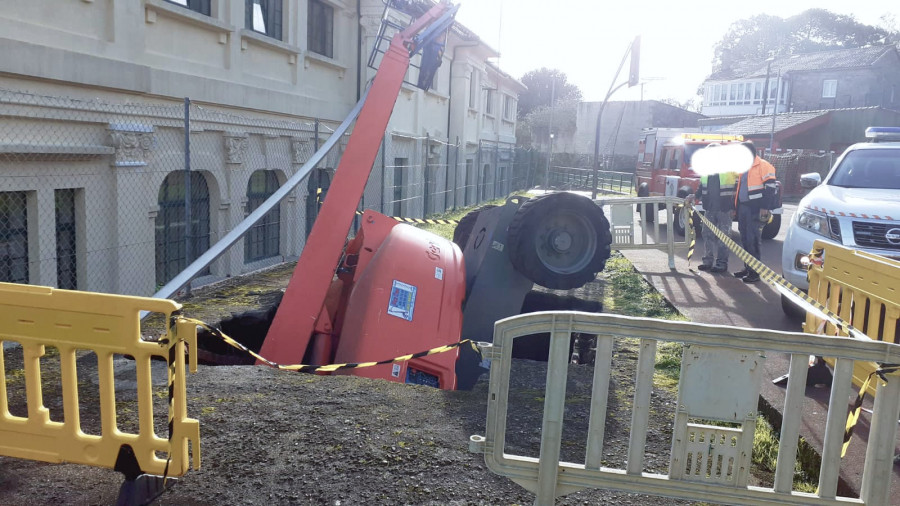
[[[900,344],[900,262],[823,241],[815,242],[812,258],[810,297],[869,338]],[[812,312],[806,313],[803,329],[811,334],[847,335]],[[825,360],[834,365],[833,359]],[[853,383],[861,387],[876,369],[874,362],[856,362]],[[875,395],[875,382],[869,383],[867,393]]]

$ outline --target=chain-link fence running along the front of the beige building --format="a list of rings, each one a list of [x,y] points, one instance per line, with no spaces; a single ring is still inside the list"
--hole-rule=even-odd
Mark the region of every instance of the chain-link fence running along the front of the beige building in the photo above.
[[[0,281],[150,295],[284,185],[335,122],[0,90]],[[295,260],[348,135],[194,286]],[[388,134],[360,208],[424,217],[533,180],[512,145]]]

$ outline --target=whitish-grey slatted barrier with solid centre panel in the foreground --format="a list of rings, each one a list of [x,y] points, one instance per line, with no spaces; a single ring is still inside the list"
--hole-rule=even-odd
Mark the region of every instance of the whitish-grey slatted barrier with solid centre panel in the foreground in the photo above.
[[[597,336],[590,420],[584,462],[561,462],[570,336]],[[514,339],[550,333],[550,356],[541,431],[540,458],[507,453],[506,420]],[[610,363],[614,341],[639,340],[628,454],[624,468],[602,465]],[[645,472],[645,445],[650,420],[657,343],[684,344],[678,382],[672,450],[668,474]],[[470,438],[470,450],[484,453],[488,468],[536,495],[535,504],[553,504],[560,495],[587,488],[606,488],[723,504],[890,504],[900,375],[878,382],[866,448],[860,498],[837,496],[840,451],[822,455],[816,493],[793,490],[794,466],[809,354],[845,361],[900,363],[900,346],[795,332],[776,332],[690,322],[632,318],[599,313],[545,312],[497,322],[493,344],[482,346],[491,361],[487,426],[484,436]],[[784,420],[773,487],[747,485],[766,355],[791,357]],[[849,392],[851,369],[835,371],[832,390]],[[619,379],[621,385],[622,380]],[[843,397],[846,402],[847,396]],[[573,402],[583,402],[576,399]],[[840,449],[847,416],[845,402],[831,402],[824,446]],[[821,415],[819,415],[821,416]],[[727,422],[722,426],[721,422]],[[659,427],[652,427],[659,430]],[[579,444],[570,440],[566,444]]]

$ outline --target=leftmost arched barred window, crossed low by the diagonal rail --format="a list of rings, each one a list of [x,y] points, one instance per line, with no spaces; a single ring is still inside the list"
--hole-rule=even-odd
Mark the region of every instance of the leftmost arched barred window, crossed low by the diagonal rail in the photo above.
[[[209,249],[209,188],[206,179],[191,173],[191,191],[185,199],[183,172],[172,172],[159,188],[156,215],[156,284],[168,283]],[[186,201],[190,202],[191,226],[185,227]],[[189,234],[185,238],[185,234]],[[206,269],[201,274],[208,274]]]

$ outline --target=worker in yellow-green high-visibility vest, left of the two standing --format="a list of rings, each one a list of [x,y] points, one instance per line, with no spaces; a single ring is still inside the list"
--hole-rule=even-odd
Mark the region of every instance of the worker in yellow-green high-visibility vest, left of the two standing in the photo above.
[[[704,149],[714,149],[718,143],[712,143]],[[722,172],[700,176],[700,185],[694,195],[688,195],[685,200],[693,204],[699,200],[703,204],[703,213],[706,219],[712,222],[716,228],[725,233],[731,230],[731,221],[734,211],[734,190],[737,186],[737,174],[734,172]],[[708,272],[727,272],[728,246],[709,229],[703,225],[703,247],[705,253],[698,269]]]

